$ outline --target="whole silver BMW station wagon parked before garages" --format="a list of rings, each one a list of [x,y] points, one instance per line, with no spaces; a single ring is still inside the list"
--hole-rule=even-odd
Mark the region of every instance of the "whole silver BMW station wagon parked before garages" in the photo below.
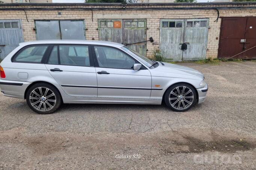
[[[197,70],[150,60],[122,44],[48,40],[21,43],[0,64],[5,96],[39,114],[62,103],[154,104],[187,111],[205,101]]]

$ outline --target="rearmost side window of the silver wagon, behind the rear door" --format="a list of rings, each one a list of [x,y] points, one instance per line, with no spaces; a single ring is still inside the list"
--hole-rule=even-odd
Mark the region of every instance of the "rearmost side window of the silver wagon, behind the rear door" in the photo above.
[[[41,62],[48,46],[29,46],[15,57],[14,61]]]

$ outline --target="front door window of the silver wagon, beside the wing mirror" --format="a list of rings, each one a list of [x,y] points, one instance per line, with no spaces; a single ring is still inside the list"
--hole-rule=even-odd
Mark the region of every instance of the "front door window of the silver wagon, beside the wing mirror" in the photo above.
[[[117,49],[101,46],[95,46],[94,49],[99,67],[131,69],[136,63],[130,56]]]

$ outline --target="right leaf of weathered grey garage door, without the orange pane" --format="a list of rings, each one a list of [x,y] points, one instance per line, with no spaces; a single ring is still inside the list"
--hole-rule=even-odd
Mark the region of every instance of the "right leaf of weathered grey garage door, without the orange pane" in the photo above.
[[[142,41],[146,41],[146,19],[123,19],[123,44],[146,56],[147,43],[137,43]]]

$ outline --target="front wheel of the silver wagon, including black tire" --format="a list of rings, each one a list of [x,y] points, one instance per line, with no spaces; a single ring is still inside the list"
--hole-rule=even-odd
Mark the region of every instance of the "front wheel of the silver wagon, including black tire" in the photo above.
[[[184,112],[196,104],[197,93],[190,84],[177,83],[167,89],[164,95],[164,101],[173,111]]]

